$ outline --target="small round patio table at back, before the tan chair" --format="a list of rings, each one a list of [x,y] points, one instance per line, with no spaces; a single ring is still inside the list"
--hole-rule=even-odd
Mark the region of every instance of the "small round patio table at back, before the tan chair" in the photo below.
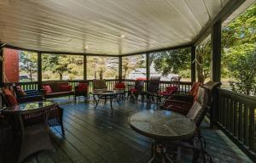
[[[93,98],[94,98],[94,101],[96,102],[95,108],[98,106],[100,99],[104,99],[105,100],[104,104],[106,104],[107,99],[109,99],[109,101],[110,101],[110,108],[111,108],[111,110],[113,110],[113,106],[112,106],[113,99],[115,98],[116,101],[119,104],[118,95],[121,95],[121,94],[124,94],[124,93],[125,93],[124,90],[96,91],[96,92],[93,92],[92,93],[93,94]]]

